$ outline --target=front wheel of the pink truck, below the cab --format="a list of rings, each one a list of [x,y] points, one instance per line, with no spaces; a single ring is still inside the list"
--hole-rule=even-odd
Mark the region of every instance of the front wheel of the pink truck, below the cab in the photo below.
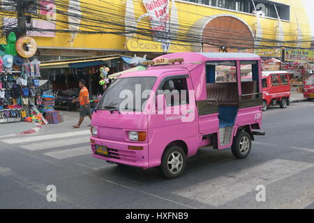
[[[184,153],[184,150],[180,146],[167,148],[160,164],[160,171],[163,176],[169,179],[178,178],[183,174],[185,168],[186,153]]]

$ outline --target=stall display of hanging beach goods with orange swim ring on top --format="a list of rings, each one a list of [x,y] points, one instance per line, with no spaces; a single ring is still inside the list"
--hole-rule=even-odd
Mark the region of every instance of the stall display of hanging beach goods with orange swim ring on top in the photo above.
[[[44,121],[37,109],[42,100],[36,49],[33,38],[17,39],[13,32],[0,46],[0,123]]]

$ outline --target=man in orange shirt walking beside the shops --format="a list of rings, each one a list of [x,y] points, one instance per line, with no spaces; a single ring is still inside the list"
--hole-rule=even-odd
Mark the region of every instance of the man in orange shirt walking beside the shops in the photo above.
[[[80,79],[79,87],[80,97],[76,98],[72,101],[72,103],[76,103],[77,101],[80,102],[80,119],[77,125],[73,125],[73,128],[80,128],[82,122],[84,121],[85,116],[89,116],[91,119],[91,107],[89,105],[89,90],[87,89],[86,81],[84,79]]]

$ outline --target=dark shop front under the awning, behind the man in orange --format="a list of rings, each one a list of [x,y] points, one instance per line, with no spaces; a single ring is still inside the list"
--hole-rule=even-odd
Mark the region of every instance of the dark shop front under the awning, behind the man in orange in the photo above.
[[[122,71],[126,66],[129,65],[124,65],[123,57],[117,54],[66,61],[46,61],[40,64],[40,68],[43,70],[43,79],[47,79],[51,83],[49,94],[55,98],[54,107],[67,111],[77,111],[79,107],[77,103],[73,104],[72,100],[77,98],[80,93],[78,87],[80,79],[87,82],[93,107],[107,84],[110,84],[107,75]]]

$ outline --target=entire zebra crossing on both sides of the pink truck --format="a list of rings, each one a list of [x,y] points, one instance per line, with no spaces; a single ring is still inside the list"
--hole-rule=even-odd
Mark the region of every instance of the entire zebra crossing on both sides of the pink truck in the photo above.
[[[38,152],[52,159],[66,160],[84,155],[91,157],[90,136],[89,130],[78,130],[57,134],[12,137],[0,139],[0,142],[18,146],[31,153]],[[314,151],[310,148],[298,149],[304,152]],[[74,160],[73,163],[96,171],[109,167],[105,162],[97,161],[77,163],[77,160]],[[217,176],[216,178],[200,180],[199,182],[195,180],[193,184],[181,187],[171,193],[174,196],[219,207],[235,201],[250,192],[254,192],[257,185],[268,187],[272,183],[278,183],[281,180],[294,176],[294,174],[313,168],[314,163],[309,162],[281,159],[269,160],[234,172],[230,171],[229,174]]]

